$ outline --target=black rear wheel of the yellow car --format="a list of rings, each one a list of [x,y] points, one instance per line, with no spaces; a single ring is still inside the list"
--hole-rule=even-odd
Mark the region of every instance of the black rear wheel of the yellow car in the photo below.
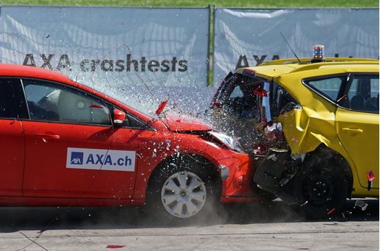
[[[329,155],[315,154],[305,160],[298,177],[301,211],[307,219],[327,219],[340,212],[348,197],[348,180],[341,166]]]

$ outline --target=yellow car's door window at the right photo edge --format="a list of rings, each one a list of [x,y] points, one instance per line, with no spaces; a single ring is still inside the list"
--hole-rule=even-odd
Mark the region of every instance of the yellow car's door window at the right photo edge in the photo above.
[[[348,102],[343,107],[379,113],[379,75],[355,74],[349,83]]]

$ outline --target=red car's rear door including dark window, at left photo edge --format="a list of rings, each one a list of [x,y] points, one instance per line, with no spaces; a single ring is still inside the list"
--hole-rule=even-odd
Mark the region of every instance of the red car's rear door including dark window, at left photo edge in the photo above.
[[[21,196],[24,143],[13,81],[0,78],[0,195]]]

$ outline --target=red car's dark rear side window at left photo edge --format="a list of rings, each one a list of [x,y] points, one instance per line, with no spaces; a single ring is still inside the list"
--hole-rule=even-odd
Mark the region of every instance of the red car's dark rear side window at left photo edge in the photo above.
[[[0,78],[0,118],[17,118],[17,99],[12,79]]]

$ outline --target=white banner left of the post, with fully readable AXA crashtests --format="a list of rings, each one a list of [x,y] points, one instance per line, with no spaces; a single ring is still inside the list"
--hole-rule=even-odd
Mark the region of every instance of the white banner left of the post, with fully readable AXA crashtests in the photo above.
[[[1,63],[60,71],[137,109],[208,90],[208,8],[3,6],[0,21]]]

